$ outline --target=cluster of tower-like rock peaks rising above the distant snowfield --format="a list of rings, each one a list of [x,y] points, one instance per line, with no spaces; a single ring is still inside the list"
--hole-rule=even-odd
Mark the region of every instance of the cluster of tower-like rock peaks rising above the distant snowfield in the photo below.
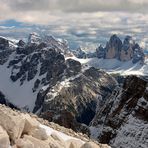
[[[96,49],[98,58],[118,59],[120,61],[130,61],[144,63],[144,53],[142,48],[135,43],[131,36],[126,36],[122,42],[117,35],[112,35],[106,47],[100,46]]]

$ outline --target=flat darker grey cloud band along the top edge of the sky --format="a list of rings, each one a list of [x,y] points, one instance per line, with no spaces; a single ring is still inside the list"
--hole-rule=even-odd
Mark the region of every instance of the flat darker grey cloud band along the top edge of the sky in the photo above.
[[[12,11],[73,11],[94,12],[98,10],[146,11],[147,0],[1,0],[1,7]]]

